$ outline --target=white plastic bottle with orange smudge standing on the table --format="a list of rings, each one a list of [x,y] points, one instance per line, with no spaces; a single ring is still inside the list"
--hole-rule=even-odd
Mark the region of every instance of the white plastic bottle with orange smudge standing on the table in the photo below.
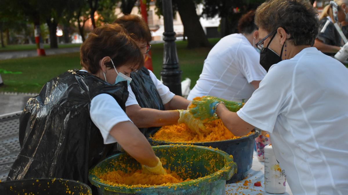
[[[270,194],[285,192],[285,171],[280,169],[272,145],[264,147],[264,189]]]

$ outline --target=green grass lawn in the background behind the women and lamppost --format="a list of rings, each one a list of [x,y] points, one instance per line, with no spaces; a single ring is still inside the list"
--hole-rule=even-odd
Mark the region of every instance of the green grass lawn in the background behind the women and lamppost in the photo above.
[[[209,39],[215,45],[219,39]],[[203,62],[211,47],[187,49],[187,42],[178,41],[177,53],[179,57],[182,79],[191,79],[191,87],[203,69]],[[152,45],[153,70],[160,78],[163,63],[163,44]],[[21,71],[22,74],[2,74],[5,85],[0,87],[0,92],[30,92],[38,93],[41,87],[50,79],[66,70],[80,68],[79,53],[58,54],[46,57],[30,57],[21,59],[0,60],[0,69],[8,71]]]

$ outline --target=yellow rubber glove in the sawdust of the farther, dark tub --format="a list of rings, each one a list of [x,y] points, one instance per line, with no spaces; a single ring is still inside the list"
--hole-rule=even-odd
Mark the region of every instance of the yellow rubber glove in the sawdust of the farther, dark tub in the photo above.
[[[207,132],[208,130],[203,125],[203,121],[195,118],[189,110],[177,110],[180,113],[180,118],[177,123],[186,124],[189,129],[198,135],[201,135],[202,132]],[[201,132],[202,131],[202,132]]]

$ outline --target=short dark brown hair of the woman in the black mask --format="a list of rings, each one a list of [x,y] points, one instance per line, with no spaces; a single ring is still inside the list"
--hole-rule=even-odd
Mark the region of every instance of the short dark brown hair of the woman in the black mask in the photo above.
[[[318,14],[308,0],[268,0],[256,9],[255,23],[271,33],[282,27],[294,45],[313,45]]]

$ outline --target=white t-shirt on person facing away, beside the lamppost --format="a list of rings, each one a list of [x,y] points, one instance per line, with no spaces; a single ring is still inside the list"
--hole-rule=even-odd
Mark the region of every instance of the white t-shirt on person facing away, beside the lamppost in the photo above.
[[[243,34],[231,34],[209,52],[187,99],[211,95],[238,102],[248,100],[255,91],[250,83],[262,80],[264,75],[266,70],[260,65],[260,54]]]

